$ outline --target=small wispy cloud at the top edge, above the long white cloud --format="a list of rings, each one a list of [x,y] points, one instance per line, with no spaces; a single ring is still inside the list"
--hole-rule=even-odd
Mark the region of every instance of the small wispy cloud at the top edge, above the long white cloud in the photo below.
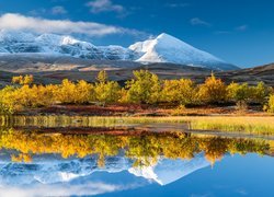
[[[125,11],[125,8],[121,4],[114,4],[111,0],[94,0],[87,3],[87,7],[90,8],[92,13],[100,12],[117,12],[122,13]]]

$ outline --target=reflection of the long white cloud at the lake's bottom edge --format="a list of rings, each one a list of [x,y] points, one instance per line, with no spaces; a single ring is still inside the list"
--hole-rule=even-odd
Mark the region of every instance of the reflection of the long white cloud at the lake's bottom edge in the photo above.
[[[75,179],[55,184],[30,183],[20,185],[0,185],[0,196],[34,197],[34,196],[95,196],[107,193],[135,189],[149,184],[149,182],[133,182],[115,184],[111,182],[94,182]]]

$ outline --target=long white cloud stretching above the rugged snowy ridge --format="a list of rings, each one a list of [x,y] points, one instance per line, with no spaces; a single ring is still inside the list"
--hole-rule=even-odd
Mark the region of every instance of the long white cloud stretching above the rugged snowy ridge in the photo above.
[[[7,13],[0,16],[0,30],[31,31],[35,33],[83,34],[88,36],[105,36],[111,34],[128,34],[133,36],[145,35],[145,33],[136,30],[95,22],[47,20],[14,13]]]

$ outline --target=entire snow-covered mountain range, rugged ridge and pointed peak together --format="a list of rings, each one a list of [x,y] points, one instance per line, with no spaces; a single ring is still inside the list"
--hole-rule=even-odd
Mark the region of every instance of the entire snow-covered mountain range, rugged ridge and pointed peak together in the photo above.
[[[153,39],[138,42],[128,48],[94,46],[71,36],[0,31],[0,54],[49,54],[96,60],[127,60],[138,62],[171,62],[216,70],[238,69],[221,59],[171,36],[160,34]]]

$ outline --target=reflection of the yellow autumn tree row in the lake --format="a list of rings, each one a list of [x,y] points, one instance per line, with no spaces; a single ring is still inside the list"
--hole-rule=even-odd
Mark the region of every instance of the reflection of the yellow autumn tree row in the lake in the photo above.
[[[1,132],[2,149],[16,150],[14,162],[31,162],[33,154],[58,153],[62,158],[84,158],[96,154],[99,166],[104,166],[105,157],[117,155],[122,150],[125,157],[135,161],[134,165],[151,165],[159,157],[167,159],[189,159],[204,152],[214,163],[225,153],[255,152],[263,154],[270,149],[264,140],[236,139],[182,132],[146,132],[140,135],[66,135],[38,134],[9,130]]]

